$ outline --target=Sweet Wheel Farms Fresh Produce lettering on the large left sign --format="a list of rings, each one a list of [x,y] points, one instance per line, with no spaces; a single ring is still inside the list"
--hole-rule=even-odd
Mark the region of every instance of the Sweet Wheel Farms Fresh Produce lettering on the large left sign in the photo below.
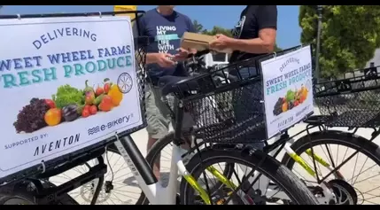
[[[58,73],[70,78],[115,68],[122,69],[132,66],[133,58],[130,45],[99,48],[97,51],[54,53],[45,57],[9,58],[0,60],[0,82],[4,89],[25,87],[34,83],[55,81]],[[44,62],[49,63],[49,66],[62,65],[64,71],[57,67],[45,67],[48,65]]]

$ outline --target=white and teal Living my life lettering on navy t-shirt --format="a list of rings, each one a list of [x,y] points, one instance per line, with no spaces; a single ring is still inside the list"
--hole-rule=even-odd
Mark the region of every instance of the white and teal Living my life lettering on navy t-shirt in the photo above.
[[[177,28],[175,26],[157,26],[155,41],[159,48],[160,53],[167,53],[167,51],[174,51],[174,44],[170,41],[179,40],[180,37],[175,33]],[[168,33],[169,32],[169,33]]]

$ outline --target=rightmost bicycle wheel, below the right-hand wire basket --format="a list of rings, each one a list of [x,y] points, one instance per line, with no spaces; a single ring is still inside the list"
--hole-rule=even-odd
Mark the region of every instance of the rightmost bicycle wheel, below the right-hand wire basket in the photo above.
[[[309,149],[311,148],[313,148],[315,155],[330,165],[330,169],[322,162],[314,161],[313,157],[310,156],[311,150]],[[342,131],[324,131],[299,138],[291,145],[291,149],[310,167],[315,168],[315,162],[320,180],[330,174],[331,169],[346,161],[338,169],[338,173],[326,177],[326,182],[330,184],[331,190],[336,194],[336,204],[380,203],[380,153],[378,152],[378,145],[361,136]],[[314,186],[316,179],[306,174],[305,169],[299,164],[295,164],[294,159],[285,153],[282,162],[296,175],[299,175],[315,194],[320,194],[318,186]]]

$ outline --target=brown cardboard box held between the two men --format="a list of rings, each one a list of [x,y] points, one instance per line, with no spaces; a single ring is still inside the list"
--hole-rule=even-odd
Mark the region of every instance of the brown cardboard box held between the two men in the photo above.
[[[200,35],[196,33],[185,32],[182,35],[181,47],[184,49],[196,49],[197,51],[205,51],[210,49],[210,44],[213,41],[213,35]],[[231,49],[225,49],[224,53],[232,53]]]

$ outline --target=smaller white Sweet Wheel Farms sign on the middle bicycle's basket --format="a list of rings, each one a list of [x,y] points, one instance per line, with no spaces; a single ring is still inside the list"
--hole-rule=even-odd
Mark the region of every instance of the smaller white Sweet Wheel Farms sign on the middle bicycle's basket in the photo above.
[[[261,62],[267,136],[314,112],[310,45]]]

